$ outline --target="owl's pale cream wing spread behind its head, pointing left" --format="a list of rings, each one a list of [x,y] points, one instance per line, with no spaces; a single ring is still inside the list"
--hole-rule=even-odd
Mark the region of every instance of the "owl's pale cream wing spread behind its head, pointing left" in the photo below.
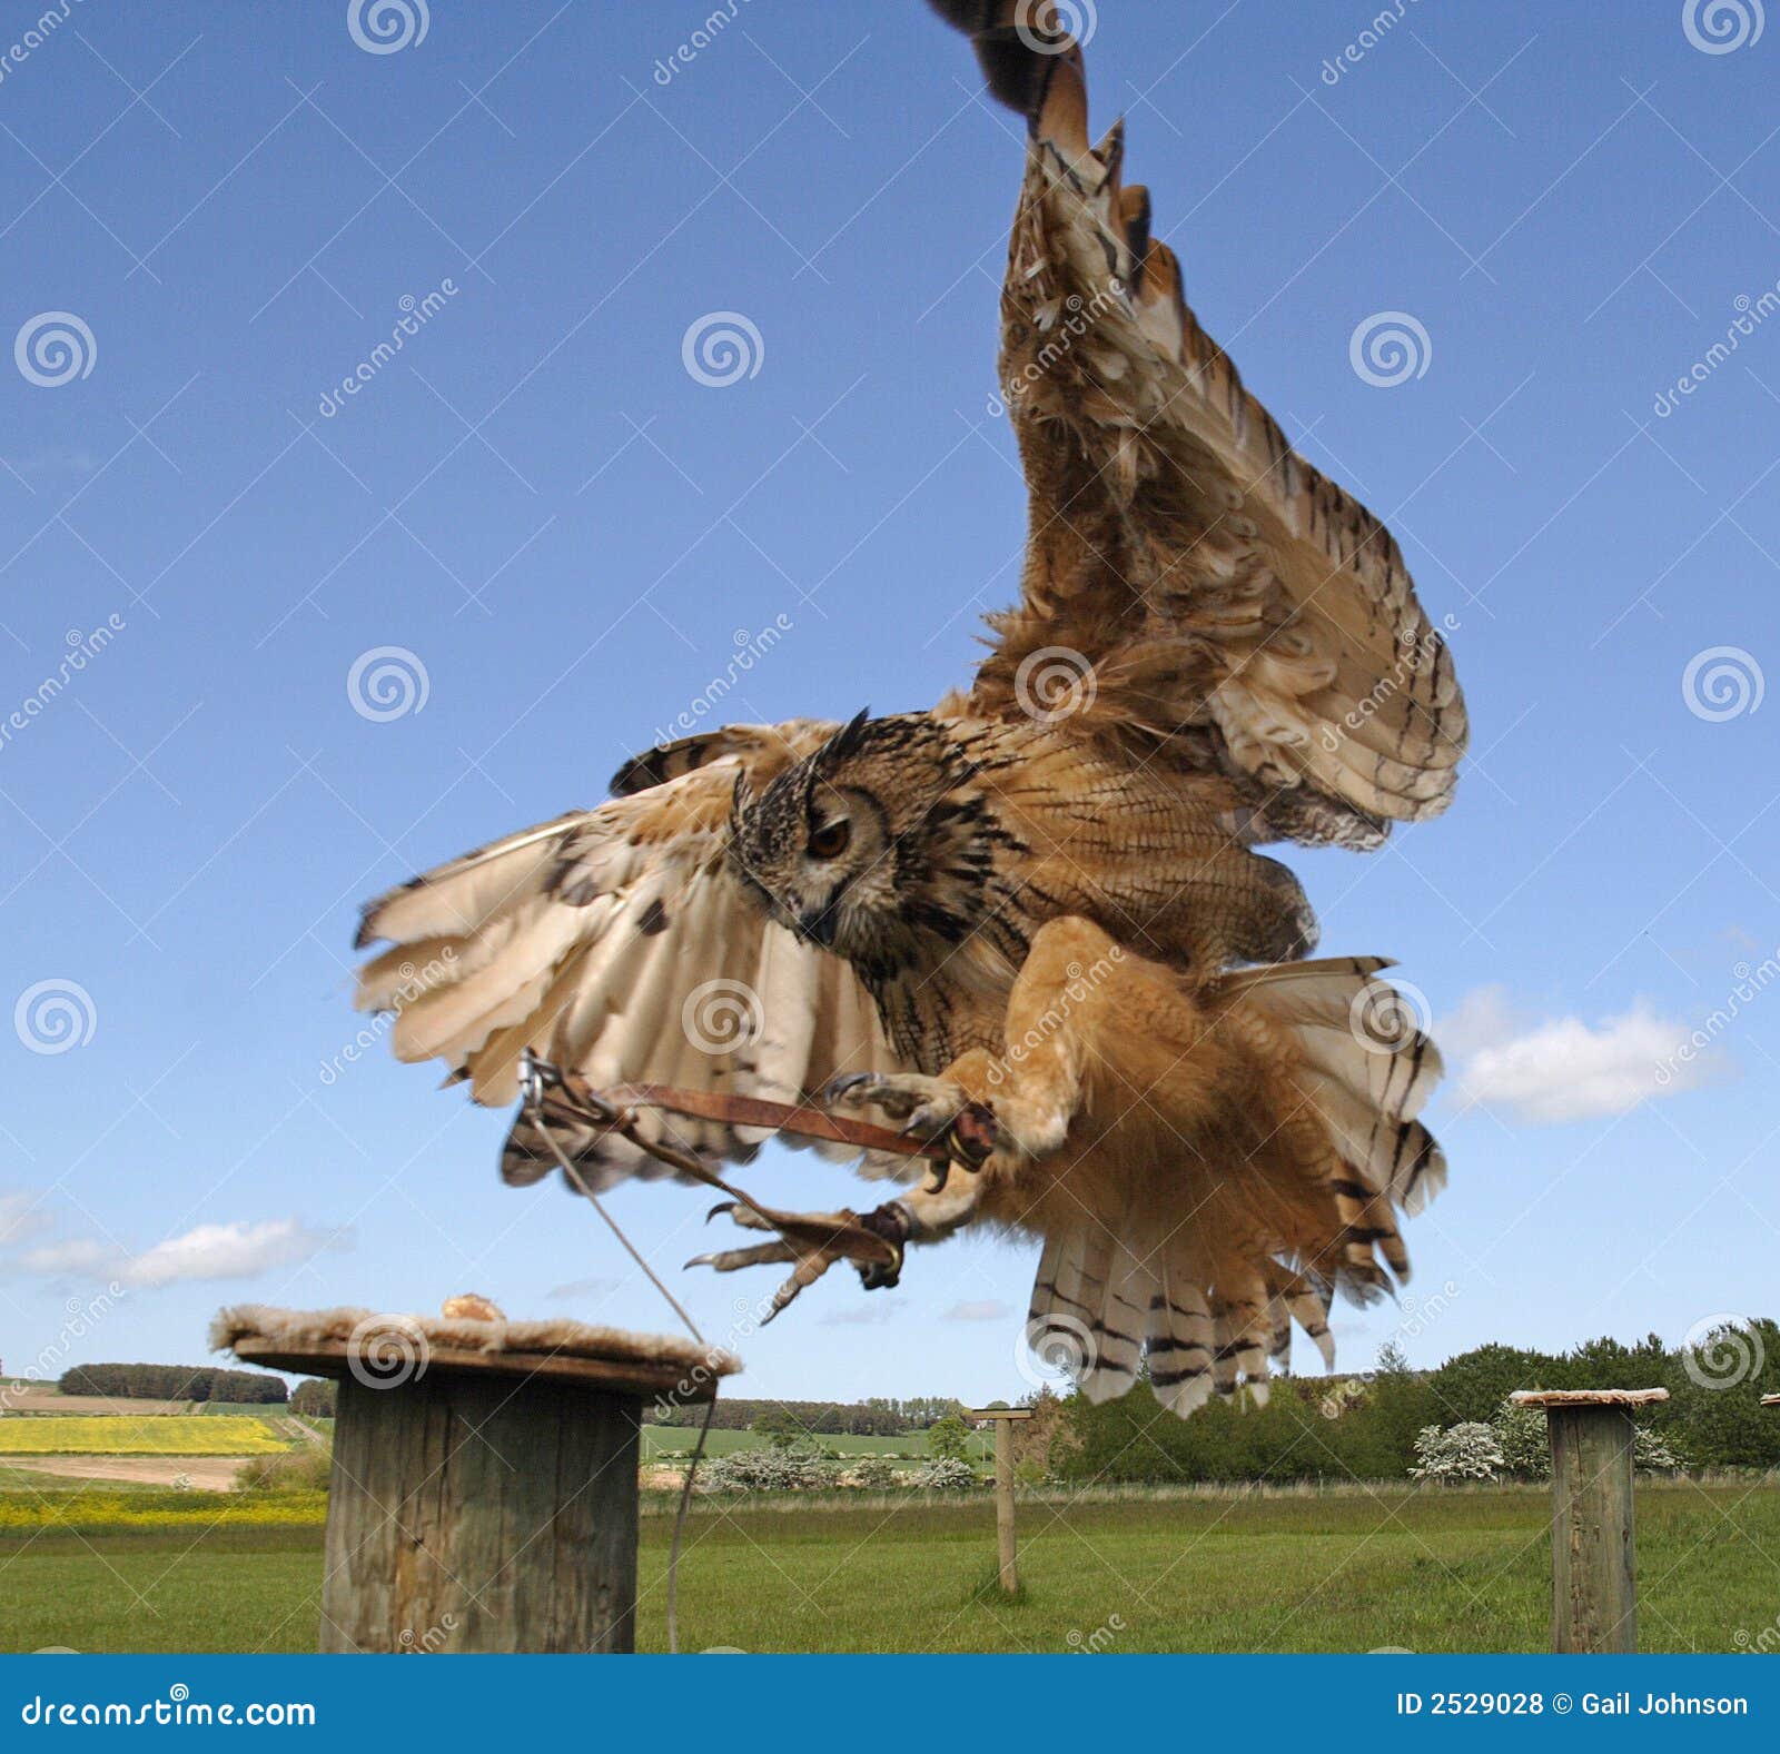
[[[596,1089],[776,1101],[906,1069],[851,966],[771,921],[724,856],[737,777],[765,784],[833,729],[739,726],[651,751],[619,774],[628,795],[392,889],[360,927],[360,946],[392,945],[361,970],[360,1009],[390,1019],[397,1058],[443,1060],[491,1106],[516,1101],[527,1050]],[[650,784],[653,772],[671,777]],[[767,1137],[659,1112],[639,1124],[712,1163],[748,1160]],[[623,1138],[554,1131],[596,1188],[668,1174]],[[525,1115],[500,1167],[513,1183],[555,1167]]]

